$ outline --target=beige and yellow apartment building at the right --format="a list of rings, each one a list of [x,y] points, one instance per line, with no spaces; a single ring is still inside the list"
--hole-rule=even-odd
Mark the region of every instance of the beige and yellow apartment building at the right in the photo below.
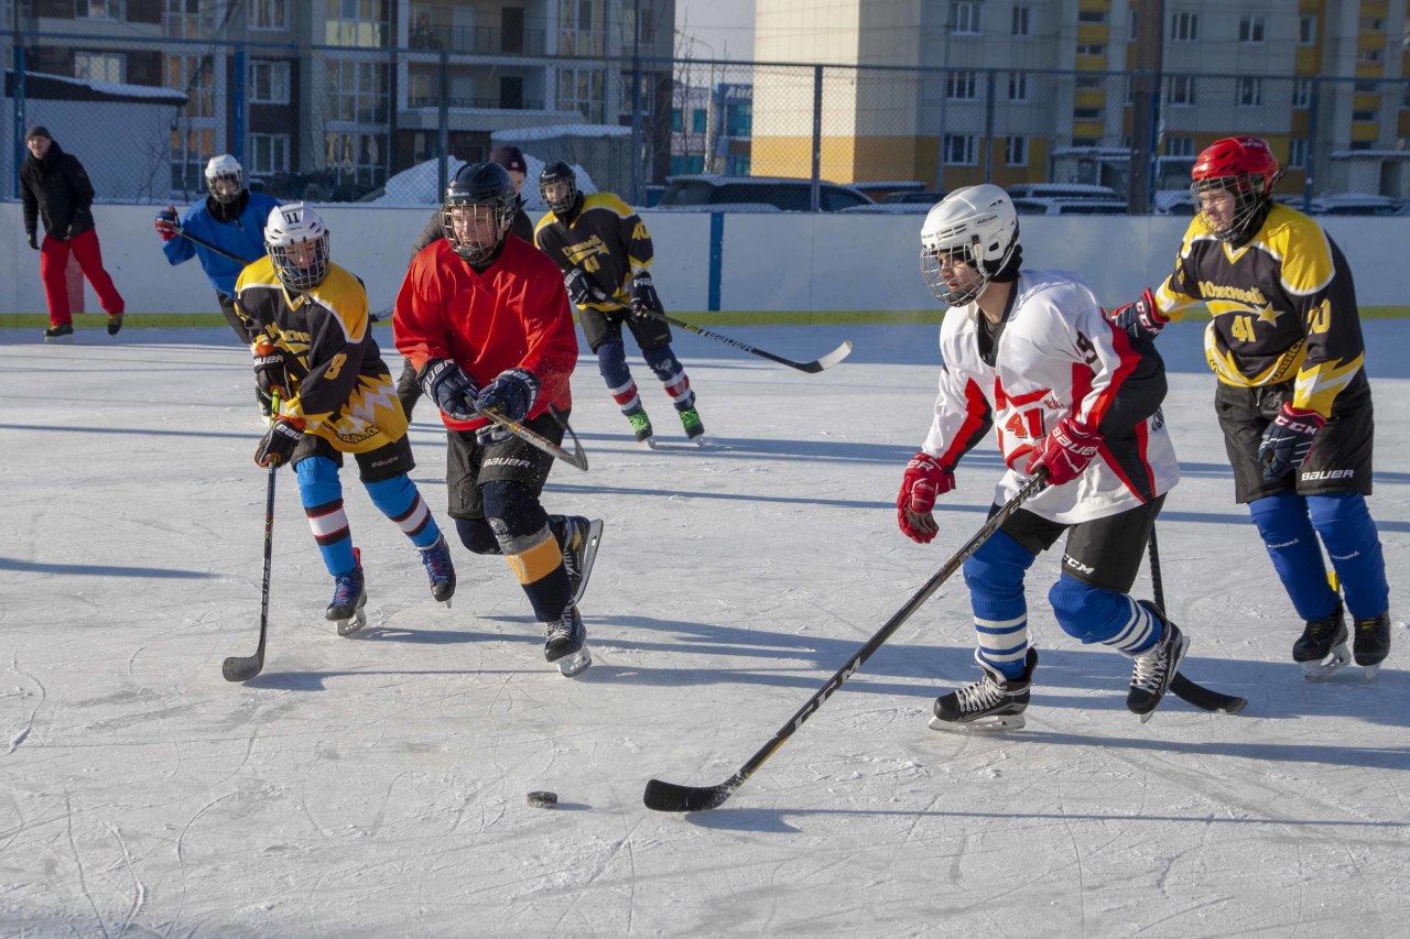
[[[1159,30],[1146,16],[1163,7]],[[1410,195],[1407,0],[757,0],[753,171],[798,175],[821,99],[822,176],[945,189],[1122,189],[1132,149],[1183,185],[1208,142],[1263,135],[1323,192]],[[1155,68],[1156,100],[1131,73]],[[840,68],[823,69],[812,63]],[[877,68],[854,68],[877,66]],[[1337,76],[1341,80],[1330,80]],[[1138,120],[1151,106],[1151,120]],[[1149,141],[1134,131],[1149,128]],[[1139,134],[1138,134],[1139,135]]]

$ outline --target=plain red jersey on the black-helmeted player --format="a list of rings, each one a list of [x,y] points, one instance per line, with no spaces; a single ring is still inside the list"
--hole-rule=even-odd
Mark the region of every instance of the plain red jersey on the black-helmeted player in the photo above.
[[[505,238],[499,258],[475,272],[446,240],[423,248],[402,281],[392,316],[396,348],[420,371],[429,360],[453,358],[481,388],[509,368],[539,379],[529,419],[550,405],[572,406],[568,376],[578,364],[578,333],[563,274],[537,248]],[[474,430],[485,417],[451,420]]]

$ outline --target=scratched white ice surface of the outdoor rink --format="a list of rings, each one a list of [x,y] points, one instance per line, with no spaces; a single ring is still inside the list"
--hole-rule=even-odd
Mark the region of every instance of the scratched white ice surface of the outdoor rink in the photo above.
[[[1184,468],[1165,589],[1186,673],[1246,695],[1242,716],[1172,698],[1138,723],[1128,661],[1045,609],[1053,553],[1031,577],[1028,729],[926,728],[977,675],[956,578],[729,802],[684,816],[643,808],[646,781],[726,780],[983,522],[993,450],[962,467],[932,546],[895,530],[933,327],[721,329],[791,358],[856,340],[811,376],[682,334],[702,453],[657,388],[664,447],[632,444],[584,357],[592,468],[554,470],[546,493],[606,519],[575,680],[543,661],[502,560],[457,547],[454,609],[436,606],[351,470],[371,622],[338,637],[281,472],[248,685],[220,674],[258,630],[248,354],[227,330],[37,331],[0,331],[0,936],[1404,935],[1404,321],[1366,323],[1394,643],[1375,684],[1292,664],[1300,625],[1232,503],[1198,326],[1180,324],[1160,340]],[[413,441],[444,519],[424,403]]]

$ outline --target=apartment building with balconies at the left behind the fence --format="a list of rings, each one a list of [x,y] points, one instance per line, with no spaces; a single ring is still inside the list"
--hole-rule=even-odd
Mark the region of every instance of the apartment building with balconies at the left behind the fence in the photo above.
[[[27,72],[188,94],[159,141],[172,196],[219,152],[357,199],[443,149],[484,158],[496,131],[634,116],[647,172],[668,164],[670,68],[650,59],[670,56],[674,0],[4,3]]]

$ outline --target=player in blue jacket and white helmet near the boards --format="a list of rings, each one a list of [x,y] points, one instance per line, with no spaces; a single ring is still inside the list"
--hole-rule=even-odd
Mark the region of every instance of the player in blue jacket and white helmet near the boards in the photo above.
[[[162,254],[171,264],[182,264],[192,258],[200,262],[210,286],[216,288],[216,302],[230,329],[243,343],[250,343],[255,331],[235,312],[235,278],[247,264],[264,255],[265,220],[279,202],[274,196],[245,189],[240,161],[230,154],[212,156],[206,164],[206,188],[210,189],[210,195],[188,209],[179,221],[176,206],[166,206],[157,213],[157,234],[162,237]],[[244,261],[233,261],[190,238],[182,238],[180,231],[189,231]],[[268,415],[268,399],[262,399],[259,405]]]

